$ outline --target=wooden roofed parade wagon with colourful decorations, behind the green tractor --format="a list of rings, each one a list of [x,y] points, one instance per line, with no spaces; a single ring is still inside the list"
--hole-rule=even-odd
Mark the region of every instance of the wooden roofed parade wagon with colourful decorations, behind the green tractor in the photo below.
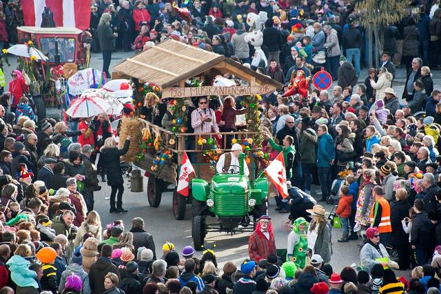
[[[230,75],[236,81],[240,80],[240,84],[225,86],[221,82],[223,79],[216,79],[224,76],[231,78]],[[137,144],[131,145],[125,159],[146,171],[147,201],[150,206],[158,207],[162,193],[170,191],[167,186],[173,184],[174,217],[185,217],[186,205],[193,204],[194,196],[191,188],[188,197],[176,190],[184,152],[189,157],[197,158],[196,162],[192,161],[197,179],[209,183],[215,175],[219,156],[229,152],[227,146],[238,143],[243,147],[245,163],[249,166],[249,178],[258,177],[257,167],[260,165],[256,165],[256,161],[267,159],[262,152],[263,135],[258,110],[262,99],[260,95],[280,89],[282,84],[232,59],[174,40],[160,43],[114,66],[112,79],[132,81],[136,115],[123,118],[123,135],[120,139],[124,140],[125,135],[130,135],[132,140],[137,140]],[[246,108],[246,112],[242,130],[234,133],[187,133],[187,127],[191,124],[187,121],[188,112],[194,109],[190,106],[193,98],[227,95],[243,97],[240,108]],[[144,112],[154,110],[160,100],[172,104],[170,109],[174,115],[171,127],[161,128],[150,121],[145,121],[144,127],[140,121],[145,119]],[[222,135],[222,139],[216,139],[218,135]],[[186,148],[189,139],[194,140],[196,148]],[[243,201],[248,201],[249,193],[251,190],[247,190]]]

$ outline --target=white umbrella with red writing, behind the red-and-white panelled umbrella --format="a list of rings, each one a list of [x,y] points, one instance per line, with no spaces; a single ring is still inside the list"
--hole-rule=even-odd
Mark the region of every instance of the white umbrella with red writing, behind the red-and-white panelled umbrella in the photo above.
[[[103,74],[100,70],[86,68],[79,70],[68,79],[69,94],[81,95],[84,90],[90,88],[99,88]]]

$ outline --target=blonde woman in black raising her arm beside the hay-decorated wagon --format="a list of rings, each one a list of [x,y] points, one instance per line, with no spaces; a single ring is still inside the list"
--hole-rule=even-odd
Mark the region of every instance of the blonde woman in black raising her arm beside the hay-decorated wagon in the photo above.
[[[107,184],[112,188],[110,192],[110,213],[127,213],[123,208],[123,192],[124,180],[121,173],[121,159],[129,150],[130,136],[125,139],[124,147],[120,150],[113,138],[107,138],[104,141],[104,146],[101,147],[101,157],[103,158],[103,168],[107,173]],[[118,192],[118,199],[115,207],[115,196]]]

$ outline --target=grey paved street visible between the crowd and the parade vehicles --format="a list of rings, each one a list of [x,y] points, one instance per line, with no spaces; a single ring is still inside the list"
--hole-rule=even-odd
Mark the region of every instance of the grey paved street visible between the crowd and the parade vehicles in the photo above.
[[[112,55],[111,68],[117,63],[123,61],[123,59],[130,57],[131,54],[124,52],[116,52]],[[10,57],[10,61],[13,58]],[[101,54],[92,55],[92,66],[96,69],[101,70],[103,59]],[[12,64],[16,66],[16,64]],[[12,67],[5,66],[6,79],[10,81],[10,72]],[[363,70],[362,79],[360,82],[364,81],[367,76],[367,69]],[[435,88],[440,88],[441,77],[439,72],[435,72],[434,75]],[[394,89],[400,95],[403,90],[403,84],[405,81],[405,71],[404,68],[397,69],[396,82],[394,83]],[[335,84],[335,83],[334,83]],[[147,231],[154,235],[154,240],[156,243],[156,254],[161,256],[161,247],[164,242],[173,242],[176,245],[177,250],[180,252],[182,248],[186,245],[192,244],[191,237],[191,206],[187,206],[187,215],[183,221],[176,221],[172,214],[172,193],[163,193],[163,200],[161,206],[158,208],[151,208],[147,204],[146,192],[143,193],[131,193],[130,189],[127,188],[123,195],[124,208],[129,210],[129,213],[120,215],[110,215],[109,203],[105,197],[109,197],[110,188],[105,183],[101,183],[103,190],[99,193],[95,193],[95,204],[96,210],[101,215],[101,222],[103,227],[105,224],[112,222],[114,219],[123,219],[125,222],[125,227],[130,228],[131,220],[133,217],[143,217],[145,223],[147,224]],[[315,187],[318,189],[318,187]],[[147,190],[147,178],[144,178],[144,191]],[[318,198],[318,197],[317,197]],[[331,206],[325,205],[327,210],[331,210]],[[283,228],[283,222],[287,220],[287,215],[281,215],[274,211],[275,204],[274,199],[271,199],[269,206],[269,214],[274,217],[274,233],[276,236],[276,244],[278,248],[286,248],[287,246],[287,235],[289,232]],[[218,257],[218,263],[223,264],[228,260],[234,260],[235,262],[241,262],[245,257],[247,257],[247,238],[249,233],[243,233],[238,235],[227,235],[225,233],[209,233],[206,239],[206,245],[212,246],[216,244],[214,251]],[[331,265],[334,266],[336,271],[340,271],[342,267],[351,265],[353,263],[359,264],[359,249],[356,244],[360,241],[351,241],[349,243],[340,244],[337,239],[341,236],[341,229],[333,230],[333,250],[334,255],[331,258]]]

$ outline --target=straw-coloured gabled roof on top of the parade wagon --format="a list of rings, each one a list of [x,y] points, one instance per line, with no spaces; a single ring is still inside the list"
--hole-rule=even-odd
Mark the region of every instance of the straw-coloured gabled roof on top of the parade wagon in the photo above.
[[[175,86],[179,81],[195,77],[205,70],[215,67],[216,69],[223,68],[223,66],[219,67],[219,63],[228,63],[229,68],[236,76],[249,77],[252,75],[256,77],[256,81],[271,84],[276,88],[282,86],[274,79],[249,70],[223,55],[208,52],[172,39],[141,52],[139,55],[125,59],[125,61],[114,66],[113,72],[119,77],[134,77],[142,82],[168,88]]]

